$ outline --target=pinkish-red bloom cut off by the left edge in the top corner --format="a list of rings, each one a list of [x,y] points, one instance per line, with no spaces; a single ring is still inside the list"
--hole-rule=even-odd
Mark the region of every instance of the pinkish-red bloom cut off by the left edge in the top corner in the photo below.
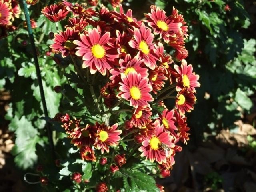
[[[10,4],[0,1],[0,25],[11,25],[12,10]]]

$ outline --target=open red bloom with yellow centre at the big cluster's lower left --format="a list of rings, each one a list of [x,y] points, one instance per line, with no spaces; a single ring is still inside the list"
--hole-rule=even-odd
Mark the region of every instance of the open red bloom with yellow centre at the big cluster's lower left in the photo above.
[[[101,153],[109,152],[108,146],[116,146],[118,145],[118,141],[120,140],[121,130],[116,130],[118,127],[118,123],[110,126],[106,126],[103,124],[98,124],[96,122],[95,127],[97,128],[96,139],[94,146],[96,149],[101,149]]]

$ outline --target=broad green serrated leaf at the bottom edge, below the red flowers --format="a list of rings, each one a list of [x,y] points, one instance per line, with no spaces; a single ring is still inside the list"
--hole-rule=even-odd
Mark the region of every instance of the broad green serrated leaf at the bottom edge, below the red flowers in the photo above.
[[[124,189],[126,191],[142,192],[159,192],[156,186],[156,181],[153,177],[142,173],[122,170],[120,173],[123,175]]]

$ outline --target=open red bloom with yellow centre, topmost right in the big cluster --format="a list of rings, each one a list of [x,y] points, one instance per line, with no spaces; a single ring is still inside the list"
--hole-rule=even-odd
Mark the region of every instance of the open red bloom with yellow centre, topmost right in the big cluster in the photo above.
[[[150,12],[151,13],[144,14],[148,19],[145,20],[145,22],[148,22],[148,25],[153,28],[154,34],[160,34],[160,37],[163,38],[166,43],[168,43],[170,36],[169,34],[176,33],[182,26],[182,23],[174,22],[166,16],[164,10],[161,10],[155,5],[151,6]]]

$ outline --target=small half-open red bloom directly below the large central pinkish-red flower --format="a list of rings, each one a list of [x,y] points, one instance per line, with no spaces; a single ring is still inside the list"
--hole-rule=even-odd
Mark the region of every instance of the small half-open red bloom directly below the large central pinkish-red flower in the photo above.
[[[148,107],[138,107],[132,113],[132,118],[130,123],[134,127],[142,127],[145,126],[147,122],[149,122],[151,118],[152,112]]]

